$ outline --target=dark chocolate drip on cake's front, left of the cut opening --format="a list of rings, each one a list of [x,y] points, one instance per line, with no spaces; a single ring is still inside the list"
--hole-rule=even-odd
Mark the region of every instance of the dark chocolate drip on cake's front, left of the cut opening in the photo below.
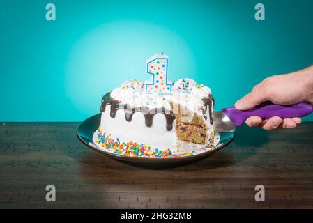
[[[121,105],[118,100],[114,100],[111,98],[111,91],[109,91],[107,94],[105,94],[102,98],[102,103],[100,107],[100,112],[105,112],[105,107],[107,105],[110,105],[110,116],[111,118],[115,118],[116,111],[119,109],[124,109],[125,112],[125,119],[126,121],[132,121],[132,116],[135,114],[135,112],[142,112],[144,114],[145,123],[147,127],[151,127],[153,124],[153,116],[157,113],[162,113],[165,115],[166,119],[166,127],[167,130],[173,129],[173,121],[175,119],[175,116],[172,111],[169,111],[165,109],[164,107],[160,109],[148,109],[148,107],[131,107],[130,105]]]

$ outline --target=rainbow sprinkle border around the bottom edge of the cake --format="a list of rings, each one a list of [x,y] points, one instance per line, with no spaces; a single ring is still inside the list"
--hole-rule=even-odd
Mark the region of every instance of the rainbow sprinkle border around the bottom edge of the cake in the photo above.
[[[203,153],[205,151],[213,151],[215,149],[214,145],[215,133],[211,133],[208,137],[208,146],[204,146],[199,151],[185,151],[185,152],[174,152],[170,148],[161,150],[158,148],[151,148],[145,144],[138,144],[137,142],[121,142],[119,138],[112,139],[111,134],[107,134],[98,129],[98,134],[96,135],[96,144],[105,148],[111,153],[116,153],[118,155],[125,155],[131,157],[150,157],[150,158],[173,158],[173,157],[185,157],[188,155],[196,155]]]

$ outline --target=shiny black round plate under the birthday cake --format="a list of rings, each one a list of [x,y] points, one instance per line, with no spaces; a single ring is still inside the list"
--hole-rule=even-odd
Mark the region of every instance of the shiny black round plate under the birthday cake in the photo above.
[[[100,125],[101,114],[96,114],[95,116],[91,116],[87,118],[85,121],[80,123],[79,127],[77,128],[77,137],[82,141],[83,144],[88,146],[89,148],[97,151],[99,153],[108,155],[116,160],[121,160],[123,162],[127,162],[128,164],[135,164],[142,167],[149,167],[149,168],[162,168],[162,167],[174,167],[182,164],[189,164],[190,162],[194,162],[196,160],[201,160],[202,158],[212,155],[216,151],[220,150],[224,146],[227,146],[232,139],[235,137],[235,133],[233,132],[220,132],[220,142],[217,144],[215,150],[207,151],[204,153],[200,153],[197,155],[190,155],[185,157],[173,157],[173,158],[148,158],[148,157],[130,157],[125,155],[118,155],[109,153],[106,151],[100,150],[94,143],[93,143],[93,133],[98,130]]]

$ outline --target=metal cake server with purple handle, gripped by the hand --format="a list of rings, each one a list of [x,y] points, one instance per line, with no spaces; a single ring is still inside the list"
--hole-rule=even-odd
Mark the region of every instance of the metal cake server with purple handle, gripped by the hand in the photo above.
[[[313,106],[306,102],[300,102],[296,105],[275,105],[272,102],[265,102],[247,111],[240,111],[233,106],[222,109],[221,112],[213,112],[213,121],[216,132],[234,132],[236,126],[242,125],[251,116],[259,116],[263,119],[273,116],[300,118],[312,112]]]

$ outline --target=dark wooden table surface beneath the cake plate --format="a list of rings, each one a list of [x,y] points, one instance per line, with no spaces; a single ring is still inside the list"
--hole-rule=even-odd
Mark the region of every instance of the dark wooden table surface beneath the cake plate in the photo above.
[[[226,148],[143,169],[84,146],[79,123],[0,123],[0,208],[313,208],[313,123],[238,128]],[[56,202],[45,200],[55,185]],[[265,202],[254,200],[264,185]]]

